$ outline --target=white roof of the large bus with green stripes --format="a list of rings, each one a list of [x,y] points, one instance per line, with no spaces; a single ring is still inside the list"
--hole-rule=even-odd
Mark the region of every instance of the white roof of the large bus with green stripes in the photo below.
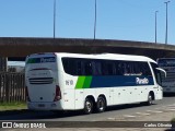
[[[120,55],[120,53],[70,53],[70,52],[43,52],[43,53],[33,53],[28,57],[44,57],[44,56],[57,56],[57,57],[70,57],[70,58],[89,58],[89,59],[109,59],[109,60],[130,60],[130,61],[150,61],[156,63],[153,59],[144,56],[136,55]]]

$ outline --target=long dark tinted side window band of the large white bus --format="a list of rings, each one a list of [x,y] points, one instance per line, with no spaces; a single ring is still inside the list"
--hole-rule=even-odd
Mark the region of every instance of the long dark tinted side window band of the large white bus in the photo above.
[[[151,75],[148,62],[62,58],[65,72],[71,75]]]

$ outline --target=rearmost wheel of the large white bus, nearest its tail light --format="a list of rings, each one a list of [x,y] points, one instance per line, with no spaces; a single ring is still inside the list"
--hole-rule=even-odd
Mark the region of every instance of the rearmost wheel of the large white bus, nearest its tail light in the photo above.
[[[93,100],[91,98],[85,98],[84,114],[90,115],[93,111]]]

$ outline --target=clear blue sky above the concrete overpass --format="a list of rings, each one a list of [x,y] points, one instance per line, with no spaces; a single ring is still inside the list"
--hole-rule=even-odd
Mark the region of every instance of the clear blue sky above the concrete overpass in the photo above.
[[[96,0],[96,39],[165,43],[167,0]],[[95,0],[56,0],[57,38],[94,38]],[[167,43],[175,45],[175,0]],[[0,0],[0,37],[54,37],[54,0]]]

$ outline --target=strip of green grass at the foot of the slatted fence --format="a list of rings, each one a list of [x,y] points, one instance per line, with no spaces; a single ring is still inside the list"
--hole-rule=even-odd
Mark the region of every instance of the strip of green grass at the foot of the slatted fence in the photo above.
[[[26,109],[26,103],[24,102],[0,103],[0,111],[18,110],[18,109]]]

